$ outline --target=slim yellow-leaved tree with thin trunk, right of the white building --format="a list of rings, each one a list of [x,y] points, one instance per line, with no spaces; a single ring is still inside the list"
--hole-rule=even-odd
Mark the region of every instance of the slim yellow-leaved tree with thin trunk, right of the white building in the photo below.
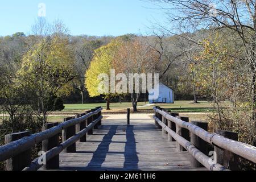
[[[201,86],[203,92],[213,97],[217,105],[218,121],[222,123],[221,101],[226,99],[226,90],[229,86],[227,82],[234,71],[230,67],[234,60],[226,54],[227,49],[221,46],[218,38],[212,42],[205,40],[203,47],[204,51],[196,57],[196,64],[191,63],[191,71],[198,75],[197,84]]]

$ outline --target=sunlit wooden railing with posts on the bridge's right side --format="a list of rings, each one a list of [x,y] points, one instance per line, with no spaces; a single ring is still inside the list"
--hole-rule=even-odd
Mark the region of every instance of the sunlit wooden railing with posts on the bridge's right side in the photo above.
[[[191,167],[206,167],[211,171],[238,169],[238,156],[256,163],[256,147],[237,141],[238,135],[229,131],[218,130],[208,133],[208,124],[189,122],[189,118],[168,113],[160,107],[154,107],[155,125],[162,127],[163,134],[168,134],[169,141],[175,141],[177,151],[191,154]],[[207,146],[214,146],[209,157]],[[201,166],[203,165],[203,166]]]

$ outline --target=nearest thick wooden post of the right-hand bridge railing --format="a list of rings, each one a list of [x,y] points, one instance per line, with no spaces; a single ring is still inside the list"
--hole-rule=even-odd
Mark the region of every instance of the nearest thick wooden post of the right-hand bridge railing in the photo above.
[[[238,134],[230,131],[217,130],[217,134],[232,140],[238,140]],[[214,161],[232,171],[238,171],[238,156],[228,150],[214,146]]]

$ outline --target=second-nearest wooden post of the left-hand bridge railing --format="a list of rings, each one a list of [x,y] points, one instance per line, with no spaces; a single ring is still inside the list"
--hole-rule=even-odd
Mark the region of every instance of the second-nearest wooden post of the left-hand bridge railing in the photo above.
[[[59,123],[47,123],[43,127],[43,131],[51,129],[52,127],[55,127],[59,125]],[[59,134],[48,138],[46,140],[43,140],[42,142],[42,151],[47,152],[48,150],[51,150],[54,147],[59,146],[60,140],[59,140]],[[54,156],[52,159],[49,159],[46,162],[46,165],[43,166],[43,169],[51,170],[51,169],[59,169],[60,167],[60,157],[59,154]]]

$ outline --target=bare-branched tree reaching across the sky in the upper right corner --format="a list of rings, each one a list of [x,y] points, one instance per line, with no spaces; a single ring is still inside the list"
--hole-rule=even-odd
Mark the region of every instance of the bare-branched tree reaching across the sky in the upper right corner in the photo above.
[[[152,0],[154,1],[154,0]],[[155,0],[164,5],[168,18],[180,30],[188,32],[212,28],[215,30],[233,31],[240,40],[244,59],[250,65],[250,93],[253,118],[256,117],[256,2],[255,1],[181,1]],[[175,24],[176,23],[176,24]],[[163,27],[163,26],[162,26]],[[163,27],[172,34],[170,28]],[[188,36],[187,36],[188,35]],[[181,35],[184,39],[197,43],[189,34]],[[256,127],[256,122],[255,122]]]

